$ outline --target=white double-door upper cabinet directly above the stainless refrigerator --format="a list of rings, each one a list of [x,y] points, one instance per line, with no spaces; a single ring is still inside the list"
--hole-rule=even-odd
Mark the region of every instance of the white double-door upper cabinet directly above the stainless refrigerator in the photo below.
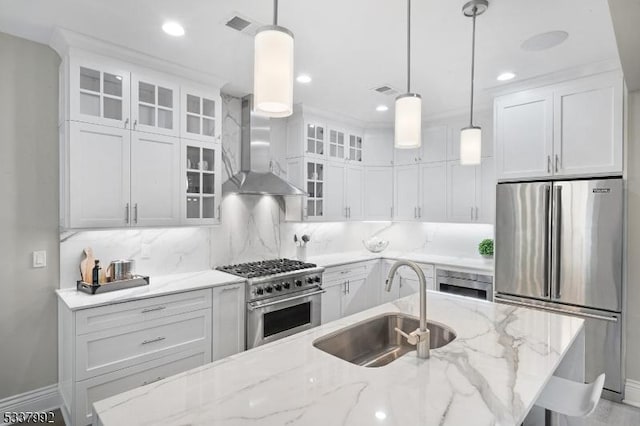
[[[497,98],[498,179],[622,173],[623,92],[608,72]]]

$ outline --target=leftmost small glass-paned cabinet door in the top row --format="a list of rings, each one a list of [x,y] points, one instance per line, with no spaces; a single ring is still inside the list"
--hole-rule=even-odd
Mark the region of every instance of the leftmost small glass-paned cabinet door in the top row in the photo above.
[[[130,126],[130,72],[117,65],[84,59],[69,61],[64,94],[69,119],[103,126]]]

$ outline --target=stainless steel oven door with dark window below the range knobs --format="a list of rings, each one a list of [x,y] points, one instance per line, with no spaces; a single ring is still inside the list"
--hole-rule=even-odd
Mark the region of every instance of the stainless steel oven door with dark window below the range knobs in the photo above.
[[[320,325],[320,287],[247,303],[247,349]]]

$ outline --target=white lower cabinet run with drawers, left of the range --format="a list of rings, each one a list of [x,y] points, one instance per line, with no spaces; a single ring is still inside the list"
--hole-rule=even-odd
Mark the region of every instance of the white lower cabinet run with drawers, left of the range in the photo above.
[[[244,350],[245,283],[71,311],[58,303],[58,375],[72,425],[92,404]]]

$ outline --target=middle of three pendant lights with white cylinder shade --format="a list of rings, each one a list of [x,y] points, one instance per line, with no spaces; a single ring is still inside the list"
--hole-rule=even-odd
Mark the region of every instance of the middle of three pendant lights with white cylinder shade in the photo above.
[[[411,0],[407,0],[407,93],[396,98],[395,142],[398,149],[422,145],[422,97],[411,93]]]

